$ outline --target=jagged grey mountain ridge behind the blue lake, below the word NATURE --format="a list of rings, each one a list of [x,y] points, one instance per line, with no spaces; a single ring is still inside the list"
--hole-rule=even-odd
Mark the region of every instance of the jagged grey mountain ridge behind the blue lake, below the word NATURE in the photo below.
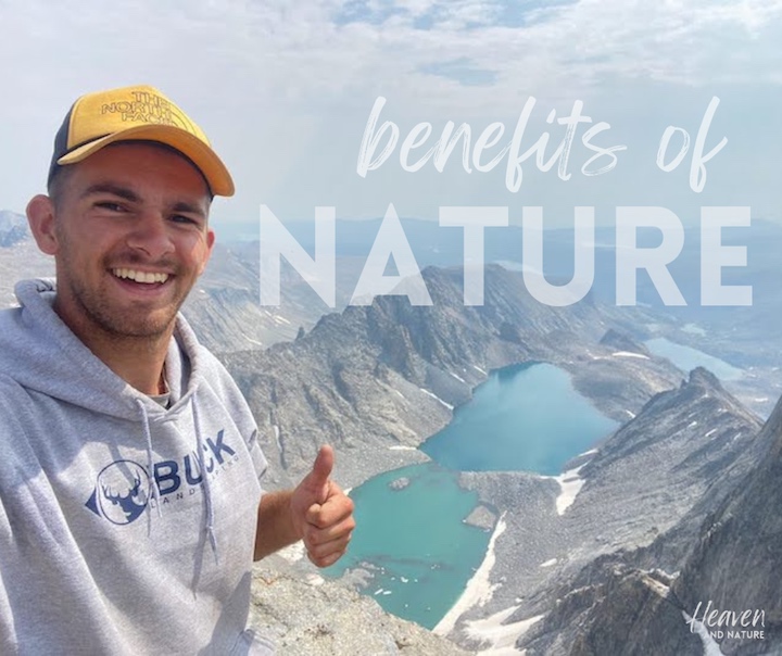
[[[500,267],[487,268],[485,304],[465,306],[462,276],[426,269],[431,306],[381,297],[323,317],[294,342],[225,356],[261,425],[276,483],[301,476],[324,441],[336,445],[337,474],[349,485],[420,462],[414,447],[496,367],[558,364],[619,420],[679,382],[666,361],[616,356],[598,343],[616,308],[542,305],[519,274]]]

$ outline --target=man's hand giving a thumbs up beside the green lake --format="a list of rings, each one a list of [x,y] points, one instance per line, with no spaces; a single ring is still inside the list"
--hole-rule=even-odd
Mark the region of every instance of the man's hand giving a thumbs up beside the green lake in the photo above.
[[[333,463],[331,446],[321,446],[312,470],[293,490],[290,501],[293,526],[310,560],[318,567],[339,560],[355,528],[353,502],[329,478]]]

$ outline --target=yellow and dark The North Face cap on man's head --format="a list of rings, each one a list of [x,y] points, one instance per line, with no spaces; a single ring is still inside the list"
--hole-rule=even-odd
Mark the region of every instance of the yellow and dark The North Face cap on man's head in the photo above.
[[[234,195],[234,180],[203,130],[173,101],[148,86],[81,96],[54,138],[49,179],[58,167],[75,164],[117,141],[159,141],[188,157],[215,195]]]

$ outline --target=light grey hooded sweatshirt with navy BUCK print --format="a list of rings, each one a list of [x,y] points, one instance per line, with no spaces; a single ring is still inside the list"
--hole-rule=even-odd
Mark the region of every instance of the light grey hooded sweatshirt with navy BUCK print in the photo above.
[[[0,312],[0,654],[268,654],[245,630],[257,428],[179,317],[169,408],[16,286]]]

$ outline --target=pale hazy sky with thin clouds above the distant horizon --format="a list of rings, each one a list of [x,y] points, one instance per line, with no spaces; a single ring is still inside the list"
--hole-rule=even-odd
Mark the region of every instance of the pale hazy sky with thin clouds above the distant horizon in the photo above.
[[[622,205],[685,225],[707,205],[782,220],[781,45],[782,1],[0,0],[0,209],[43,190],[76,97],[149,84],[231,171],[237,194],[213,210],[225,222],[256,220],[262,204],[288,222],[391,203],[434,220],[443,206],[506,206],[512,224],[542,206],[546,227],[581,205],[606,225]],[[575,108],[590,122],[570,121],[568,137],[558,121]],[[449,122],[468,128],[439,171]],[[516,161],[546,133],[540,166]],[[601,148],[615,150],[589,164]],[[698,151],[714,153],[693,181]]]

